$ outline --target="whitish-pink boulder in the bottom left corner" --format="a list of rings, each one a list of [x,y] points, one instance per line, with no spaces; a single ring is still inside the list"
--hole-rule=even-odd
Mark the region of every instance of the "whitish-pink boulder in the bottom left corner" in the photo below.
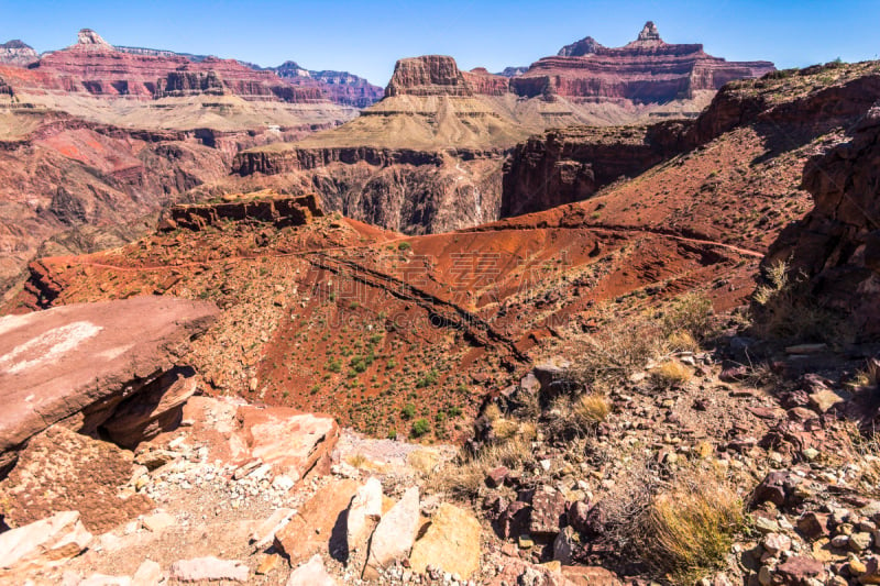
[[[62,564],[79,555],[91,540],[77,511],[57,512],[0,533],[0,577]]]

